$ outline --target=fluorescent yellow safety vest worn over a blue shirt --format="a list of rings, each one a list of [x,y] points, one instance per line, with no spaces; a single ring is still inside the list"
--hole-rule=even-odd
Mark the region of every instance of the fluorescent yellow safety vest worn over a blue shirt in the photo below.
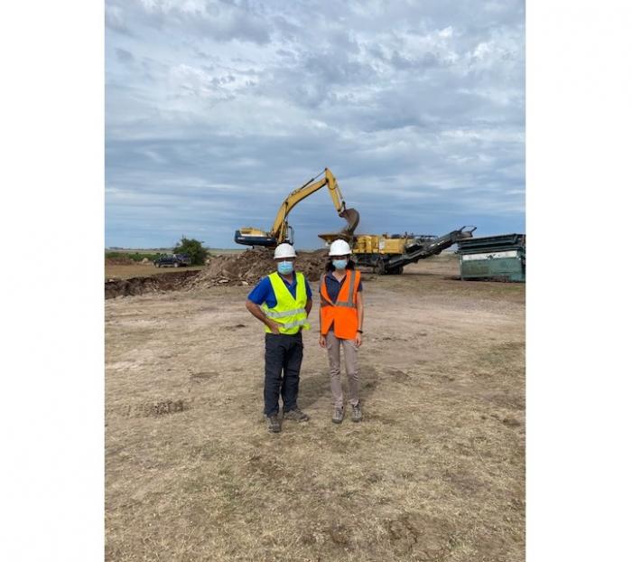
[[[279,328],[280,333],[298,333],[301,326],[303,330],[309,330],[310,324],[307,322],[305,311],[307,289],[305,289],[305,277],[302,273],[296,272],[296,298],[292,296],[289,287],[285,285],[277,272],[271,273],[268,278],[272,283],[276,306],[268,308],[267,304],[262,304],[261,309],[264,314],[274,322],[283,324]],[[272,330],[265,326],[265,332],[272,333]]]

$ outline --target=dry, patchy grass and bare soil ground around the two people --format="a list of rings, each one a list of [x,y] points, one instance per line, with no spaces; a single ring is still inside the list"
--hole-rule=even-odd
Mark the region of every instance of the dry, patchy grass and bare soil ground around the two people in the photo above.
[[[312,330],[278,435],[251,287],[107,300],[106,559],[524,560],[525,286],[457,273],[365,276],[365,419],[331,424]]]

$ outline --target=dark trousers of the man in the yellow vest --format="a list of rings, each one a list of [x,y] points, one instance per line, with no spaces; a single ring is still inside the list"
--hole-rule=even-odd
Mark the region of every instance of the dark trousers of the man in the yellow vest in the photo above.
[[[284,412],[296,407],[301,362],[302,333],[265,334],[265,416],[278,413],[279,394],[283,398]]]

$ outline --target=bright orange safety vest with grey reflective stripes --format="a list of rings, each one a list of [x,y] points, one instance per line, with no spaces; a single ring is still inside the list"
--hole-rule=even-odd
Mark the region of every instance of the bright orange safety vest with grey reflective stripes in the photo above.
[[[348,269],[338,299],[333,303],[327,293],[325,276],[321,277],[321,334],[326,335],[333,323],[333,333],[340,340],[353,340],[358,332],[358,286],[360,272]]]

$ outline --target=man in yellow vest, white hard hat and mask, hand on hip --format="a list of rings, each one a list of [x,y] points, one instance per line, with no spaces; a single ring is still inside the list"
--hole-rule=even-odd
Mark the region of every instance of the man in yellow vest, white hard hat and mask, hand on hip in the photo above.
[[[246,308],[265,324],[264,414],[268,431],[281,431],[283,419],[310,419],[296,404],[302,362],[302,331],[309,330],[311,288],[305,276],[294,271],[296,252],[290,244],[274,249],[276,271],[265,276],[250,292]]]

